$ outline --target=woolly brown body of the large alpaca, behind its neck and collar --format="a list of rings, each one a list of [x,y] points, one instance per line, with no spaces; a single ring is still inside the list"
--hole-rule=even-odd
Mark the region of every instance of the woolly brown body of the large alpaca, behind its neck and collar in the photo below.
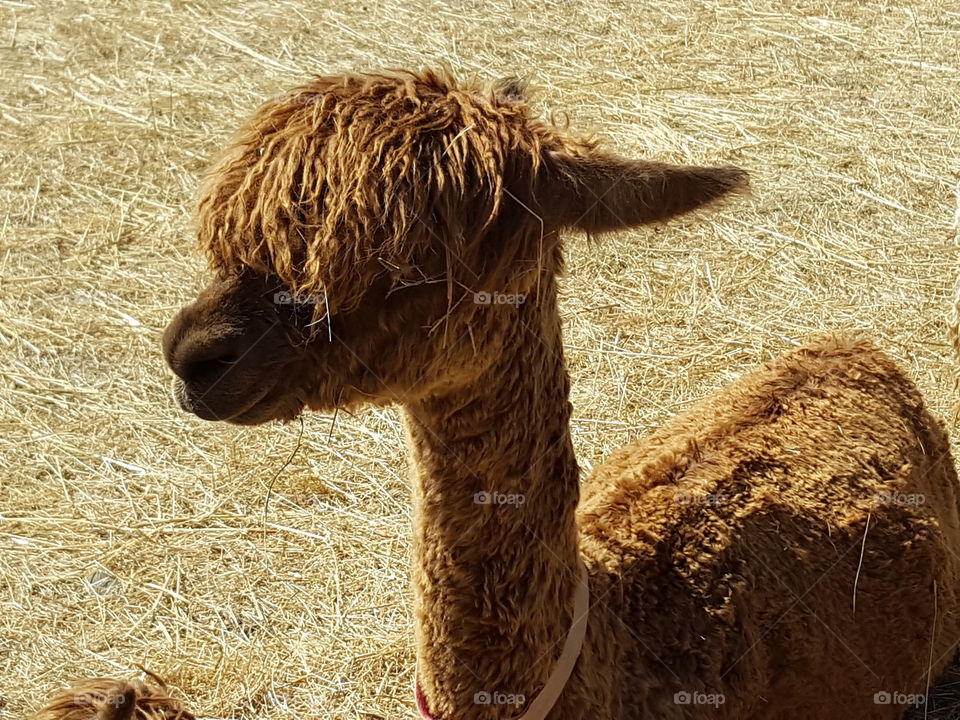
[[[866,342],[811,343],[622,449],[579,519],[632,629],[623,717],[895,718],[960,637],[947,435]]]

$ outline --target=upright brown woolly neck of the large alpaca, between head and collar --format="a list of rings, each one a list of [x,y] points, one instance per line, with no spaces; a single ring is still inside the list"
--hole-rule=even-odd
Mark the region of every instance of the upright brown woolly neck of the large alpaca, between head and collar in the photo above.
[[[439,718],[517,715],[553,672],[573,619],[579,472],[546,295],[489,308],[509,325],[498,327],[506,340],[493,365],[406,408],[419,674]]]

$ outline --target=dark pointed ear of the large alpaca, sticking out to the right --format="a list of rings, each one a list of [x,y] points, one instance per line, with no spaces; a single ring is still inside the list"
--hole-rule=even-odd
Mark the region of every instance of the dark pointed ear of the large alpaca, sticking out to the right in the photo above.
[[[628,160],[595,150],[550,152],[537,176],[544,220],[588,233],[668,220],[747,189],[737,167]]]

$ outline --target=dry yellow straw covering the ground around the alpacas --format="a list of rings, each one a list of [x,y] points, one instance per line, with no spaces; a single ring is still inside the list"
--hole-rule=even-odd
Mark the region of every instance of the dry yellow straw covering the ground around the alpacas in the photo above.
[[[312,72],[438,65],[525,75],[624,153],[753,174],[709,218],[571,238],[584,471],[826,330],[948,413],[955,4],[0,0],[0,719],[134,663],[205,716],[411,716],[396,413],[307,416],[274,480],[299,425],[180,413],[159,340],[241,118]]]

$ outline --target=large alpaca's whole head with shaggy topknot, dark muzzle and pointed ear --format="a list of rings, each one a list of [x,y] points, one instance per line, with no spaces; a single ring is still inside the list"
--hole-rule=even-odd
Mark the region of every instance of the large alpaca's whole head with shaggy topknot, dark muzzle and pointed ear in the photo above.
[[[619,158],[531,116],[516,81],[318,78],[262,106],[198,206],[214,278],[171,322],[181,405],[256,424],[413,401],[483,371],[559,233],[657,222],[743,188]]]

